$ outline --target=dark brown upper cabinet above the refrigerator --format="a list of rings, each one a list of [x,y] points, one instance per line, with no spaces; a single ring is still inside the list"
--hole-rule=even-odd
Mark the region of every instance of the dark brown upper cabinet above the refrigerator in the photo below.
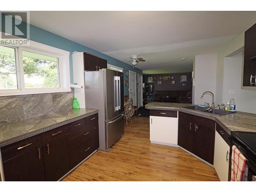
[[[84,70],[86,71],[98,71],[100,69],[107,68],[107,61],[100,57],[83,53]]]

